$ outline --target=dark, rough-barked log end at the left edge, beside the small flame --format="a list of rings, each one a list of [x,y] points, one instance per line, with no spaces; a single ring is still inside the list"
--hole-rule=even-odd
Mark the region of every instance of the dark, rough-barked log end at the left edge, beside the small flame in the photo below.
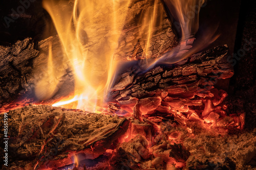
[[[31,91],[33,60],[38,53],[29,38],[12,46],[0,46],[0,108]]]

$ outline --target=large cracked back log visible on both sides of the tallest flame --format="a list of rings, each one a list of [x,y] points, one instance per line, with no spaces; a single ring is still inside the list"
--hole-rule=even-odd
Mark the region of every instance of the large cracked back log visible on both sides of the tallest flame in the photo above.
[[[154,8],[158,11],[158,15],[152,21],[154,24],[150,26],[151,18],[144,17],[151,17],[153,14],[150,12]],[[148,22],[142,23],[143,18],[148,19]],[[151,35],[151,37],[147,35]],[[86,36],[81,36],[80,39],[88,41]],[[149,39],[150,41],[148,41]],[[132,1],[114,57],[121,61],[158,57],[177,44],[178,39],[161,1]],[[93,48],[93,44],[88,43],[85,47]],[[51,101],[74,92],[72,67],[69,63],[60,64],[62,60],[66,61],[67,59],[62,53],[58,36],[49,37],[39,42],[33,42],[31,38],[27,38],[17,41],[12,46],[0,46],[0,54],[0,108],[4,106],[1,108],[1,112],[14,108],[16,103],[25,105],[30,102],[48,100],[49,104]],[[49,54],[52,54],[51,58]],[[53,58],[54,60],[52,60]],[[95,63],[99,68],[105,67],[101,62],[95,61]],[[49,72],[47,68],[54,68],[54,70]],[[39,94],[37,92],[35,97],[34,89],[37,84],[41,85],[37,89],[43,89],[45,86],[48,90],[40,91]],[[28,101],[17,100],[21,97]],[[11,105],[10,102],[12,102]]]

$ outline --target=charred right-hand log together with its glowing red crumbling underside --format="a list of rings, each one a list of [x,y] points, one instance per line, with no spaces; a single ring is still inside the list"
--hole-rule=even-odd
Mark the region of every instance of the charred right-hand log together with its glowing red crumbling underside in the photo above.
[[[215,87],[218,79],[230,78],[233,69],[227,61],[226,45],[192,55],[173,65],[159,65],[143,72],[138,65],[125,69],[109,94],[109,110],[117,114],[133,113],[159,122],[160,117],[175,118],[186,125],[189,122],[217,127],[244,127],[244,112],[228,116],[229,125],[222,118],[226,108],[222,104],[227,93]],[[117,110],[117,111],[116,111]]]

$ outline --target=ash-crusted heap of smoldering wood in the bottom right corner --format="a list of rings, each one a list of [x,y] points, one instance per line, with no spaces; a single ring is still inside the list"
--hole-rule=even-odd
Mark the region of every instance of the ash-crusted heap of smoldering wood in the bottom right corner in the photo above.
[[[169,121],[158,127],[153,144],[144,135],[121,143],[110,159],[110,169],[178,169],[177,162],[187,169],[254,167],[255,131],[227,135],[201,124],[177,126]]]

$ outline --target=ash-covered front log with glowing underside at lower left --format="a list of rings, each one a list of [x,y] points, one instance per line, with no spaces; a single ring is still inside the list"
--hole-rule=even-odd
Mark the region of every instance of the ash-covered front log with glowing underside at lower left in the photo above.
[[[11,110],[8,118],[13,169],[57,168],[95,159],[129,126],[126,118],[44,105]]]

